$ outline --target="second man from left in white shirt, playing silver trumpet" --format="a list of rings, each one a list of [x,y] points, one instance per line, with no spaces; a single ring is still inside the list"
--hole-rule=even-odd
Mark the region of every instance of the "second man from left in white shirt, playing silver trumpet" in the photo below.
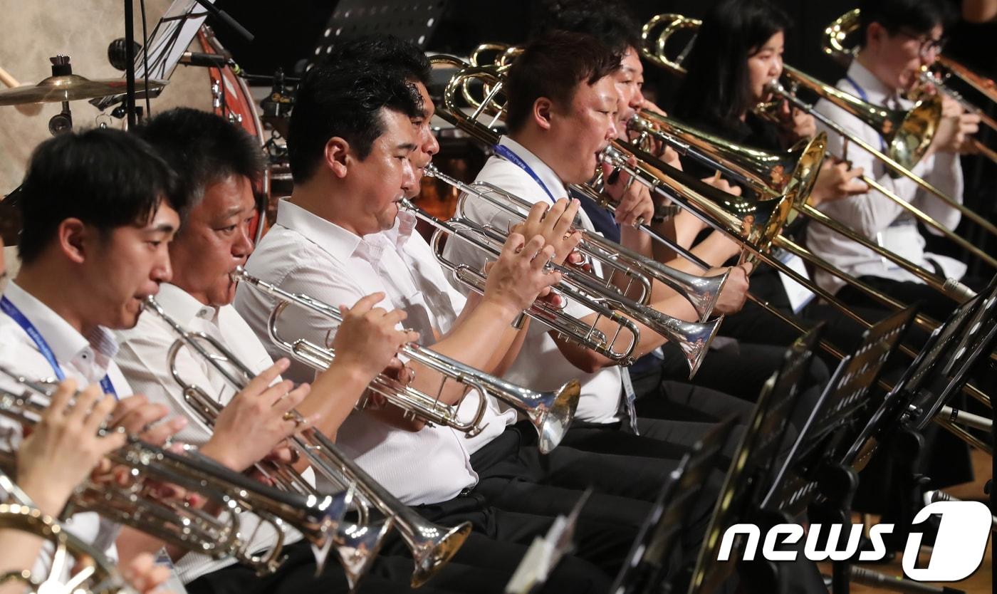
[[[204,332],[218,340],[253,371],[272,366],[273,362],[260,342],[235,309],[230,305],[235,287],[230,274],[236,266],[245,264],[252,252],[249,223],[254,211],[252,181],[262,174],[259,148],[254,139],[225,120],[203,112],[176,109],[165,112],[140,134],[158,148],[180,173],[191,206],[184,213],[181,231],[169,246],[173,278],[165,283],[157,298],[167,315],[192,332]],[[334,363],[322,372],[311,386],[308,397],[297,406],[303,415],[315,419],[315,426],[335,438],[339,426],[349,414],[371,379],[392,360],[399,346],[418,339],[409,331],[397,330],[405,312],[385,312],[374,308],[382,296],[363,297],[360,302],[343,310],[345,322],[338,329],[333,347]],[[266,313],[266,312],[264,312]],[[201,446],[248,447],[245,436],[264,441],[261,431],[254,428],[257,420],[243,415],[240,423],[219,423],[212,429],[184,401],[170,370],[166,352],[175,339],[164,320],[147,315],[132,331],[123,333],[119,356],[126,375],[134,386],[141,387],[151,399],[163,402],[190,419],[188,430],[180,437],[187,443]],[[264,339],[269,342],[269,339]],[[205,362],[182,351],[176,358],[176,368],[185,382],[206,389],[209,397],[218,398],[225,410],[236,401],[231,389]],[[231,403],[231,404],[229,404]],[[264,441],[265,442],[265,441]],[[261,455],[270,446],[257,449]],[[226,456],[218,456],[224,459]],[[300,464],[298,464],[300,466]],[[235,469],[243,469],[234,466]],[[323,484],[321,478],[319,487]],[[251,520],[250,520],[251,521]],[[246,521],[243,520],[243,529]],[[331,561],[317,578],[309,544],[292,532],[285,539],[290,546],[285,562],[273,574],[261,581],[254,570],[236,564],[233,559],[211,561],[200,555],[187,554],[179,559],[187,589],[197,592],[299,591],[302,587],[316,592],[341,591],[346,588],[341,568]],[[272,545],[274,535],[267,526],[257,534],[258,546]],[[489,541],[494,563],[472,567],[459,556],[429,583],[435,591],[469,589],[499,591],[511,575],[524,552],[515,547],[501,550],[500,543]],[[481,546],[482,543],[477,543]],[[465,547],[476,546],[466,543]],[[499,550],[497,550],[499,549]],[[386,592],[408,591],[412,560],[406,555],[382,550],[364,578],[364,588]],[[570,565],[570,564],[569,564]],[[579,569],[575,567],[575,569]],[[580,568],[583,574],[585,569]],[[581,577],[558,574],[557,584],[563,588],[584,590]]]

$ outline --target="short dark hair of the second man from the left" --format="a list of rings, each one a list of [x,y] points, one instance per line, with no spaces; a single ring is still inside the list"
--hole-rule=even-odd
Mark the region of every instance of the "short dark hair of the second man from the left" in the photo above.
[[[263,174],[263,149],[241,127],[220,116],[174,108],[156,116],[137,130],[139,136],[159,150],[179,177],[186,198],[180,213],[200,203],[204,189],[229,175],[257,181]]]

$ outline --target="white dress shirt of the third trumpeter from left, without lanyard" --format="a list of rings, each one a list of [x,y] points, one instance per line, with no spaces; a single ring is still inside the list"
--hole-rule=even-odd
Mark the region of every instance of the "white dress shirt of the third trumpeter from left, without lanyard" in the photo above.
[[[404,325],[417,330],[423,344],[432,345],[436,336],[451,329],[465,299],[447,282],[429,244],[414,232],[415,222],[414,216],[402,212],[392,229],[360,237],[284,200],[276,224],[249,257],[246,269],[286,291],[336,307],[384,292],[379,306],[405,310]],[[252,288],[240,286],[236,291],[235,307],[259,336],[267,335],[273,306]],[[325,344],[335,330],[335,323],[302,308],[289,307],[281,315],[280,332],[288,339]],[[268,341],[267,349],[276,356]],[[311,381],[315,372],[292,364],[287,375]],[[488,427],[472,439],[445,427],[408,432],[354,412],[340,428],[337,443],[405,503],[446,501],[477,483],[470,455],[515,421],[514,412],[499,412],[492,400],[485,417]],[[470,418],[478,402],[475,393],[469,394],[463,415]]]

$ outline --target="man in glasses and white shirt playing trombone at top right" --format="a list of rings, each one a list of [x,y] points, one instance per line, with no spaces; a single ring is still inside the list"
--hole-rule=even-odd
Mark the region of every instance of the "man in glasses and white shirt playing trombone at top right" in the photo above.
[[[936,0],[884,0],[861,6],[861,46],[837,88],[873,106],[906,110],[912,103],[902,98],[917,82],[921,66],[931,64],[944,43],[944,3]],[[840,108],[822,100],[818,111],[872,147],[885,148],[872,128]],[[963,178],[959,153],[976,132],[979,117],[964,113],[954,101],[943,98],[943,118],[925,155],[912,168],[942,192],[962,200]],[[819,124],[820,126],[820,124]],[[900,198],[910,202],[946,227],[954,229],[960,213],[937,197],[920,189],[905,176],[894,177],[878,159],[829,131],[828,148],[869,172],[869,176]],[[868,239],[946,278],[962,279],[966,265],[953,258],[924,251],[925,240],[908,211],[875,191],[826,202],[820,208],[832,218]],[[936,319],[945,319],[955,303],[931,289],[912,274],[872,251],[834,233],[822,225],[811,225],[808,246],[819,256],[848,274],[858,277],[903,303],[922,300],[923,309]],[[848,303],[882,307],[860,290],[819,271],[817,282]],[[969,280],[969,279],[965,279]],[[964,281],[965,282],[965,281]],[[969,280],[971,288],[975,281]]]

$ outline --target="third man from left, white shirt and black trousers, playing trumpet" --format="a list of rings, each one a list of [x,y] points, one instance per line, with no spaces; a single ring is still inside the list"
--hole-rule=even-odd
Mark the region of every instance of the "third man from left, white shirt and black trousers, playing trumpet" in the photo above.
[[[542,287],[556,280],[545,278],[554,275],[545,275],[542,266],[528,263],[538,251],[530,246],[542,241],[531,239],[516,253],[509,247],[521,246],[523,239],[512,233],[502,257],[489,271],[485,296],[466,300],[452,289],[429,245],[413,232],[413,217],[399,213],[395,205],[418,189],[411,167],[428,164],[437,149],[435,141],[424,136],[428,131],[421,124],[413,126],[413,122],[428,122],[431,113],[426,110],[431,104],[419,106],[418,98],[402,97],[411,96],[405,75],[397,82],[378,80],[381,74],[391,73],[391,65],[355,62],[334,56],[330,61],[334,66],[313,68],[299,87],[289,137],[295,193],[280,204],[277,224],[249,258],[247,269],[285,290],[331,304],[383,291],[393,305],[408,312],[407,324],[420,332],[424,344],[500,374],[506,365],[503,359],[514,356],[515,342],[520,340],[520,333],[509,323]],[[419,95],[427,95],[421,76],[407,78],[410,84],[418,80]],[[372,105],[392,107],[372,110],[368,107]],[[353,128],[352,123],[365,119],[377,128]],[[554,253],[552,246],[548,248],[547,255]],[[265,332],[261,312],[270,307],[269,300],[240,287],[235,305],[257,334]],[[291,311],[284,313],[284,323],[287,336],[312,340],[324,340],[333,330],[326,320]],[[439,376],[417,368],[414,384],[436,394]],[[445,392],[441,400],[452,404],[462,394],[458,388],[455,393]],[[514,413],[498,411],[492,399],[488,407],[488,426],[472,439],[445,427],[400,427],[398,420],[369,412],[348,418],[338,437],[341,446],[355,454],[379,482],[403,501],[421,504],[419,511],[434,521],[491,516],[495,519],[490,519],[485,531],[499,538],[506,534],[516,542],[531,538],[537,527],[546,524],[548,514],[566,511],[579,494],[572,487],[601,482],[583,511],[585,517],[576,533],[581,540],[578,554],[615,571],[620,560],[615,539],[632,538],[632,532],[625,532],[641,523],[646,500],[657,492],[673,464],[651,458],[600,458],[561,447],[549,456],[556,461],[527,463],[519,457],[519,431],[506,429]],[[413,467],[419,467],[419,472],[413,473]],[[512,480],[539,490],[549,488],[560,496],[509,501],[516,505],[515,511],[528,513],[488,507],[484,504],[493,501],[480,491],[485,479],[494,474],[497,478],[501,474],[506,484]],[[635,496],[642,500],[631,498]],[[539,507],[543,507],[542,514],[536,511]],[[603,514],[602,527],[594,521],[586,523]],[[547,519],[537,521],[540,515]],[[605,533],[610,523],[624,533]],[[488,562],[487,555],[482,562]]]

